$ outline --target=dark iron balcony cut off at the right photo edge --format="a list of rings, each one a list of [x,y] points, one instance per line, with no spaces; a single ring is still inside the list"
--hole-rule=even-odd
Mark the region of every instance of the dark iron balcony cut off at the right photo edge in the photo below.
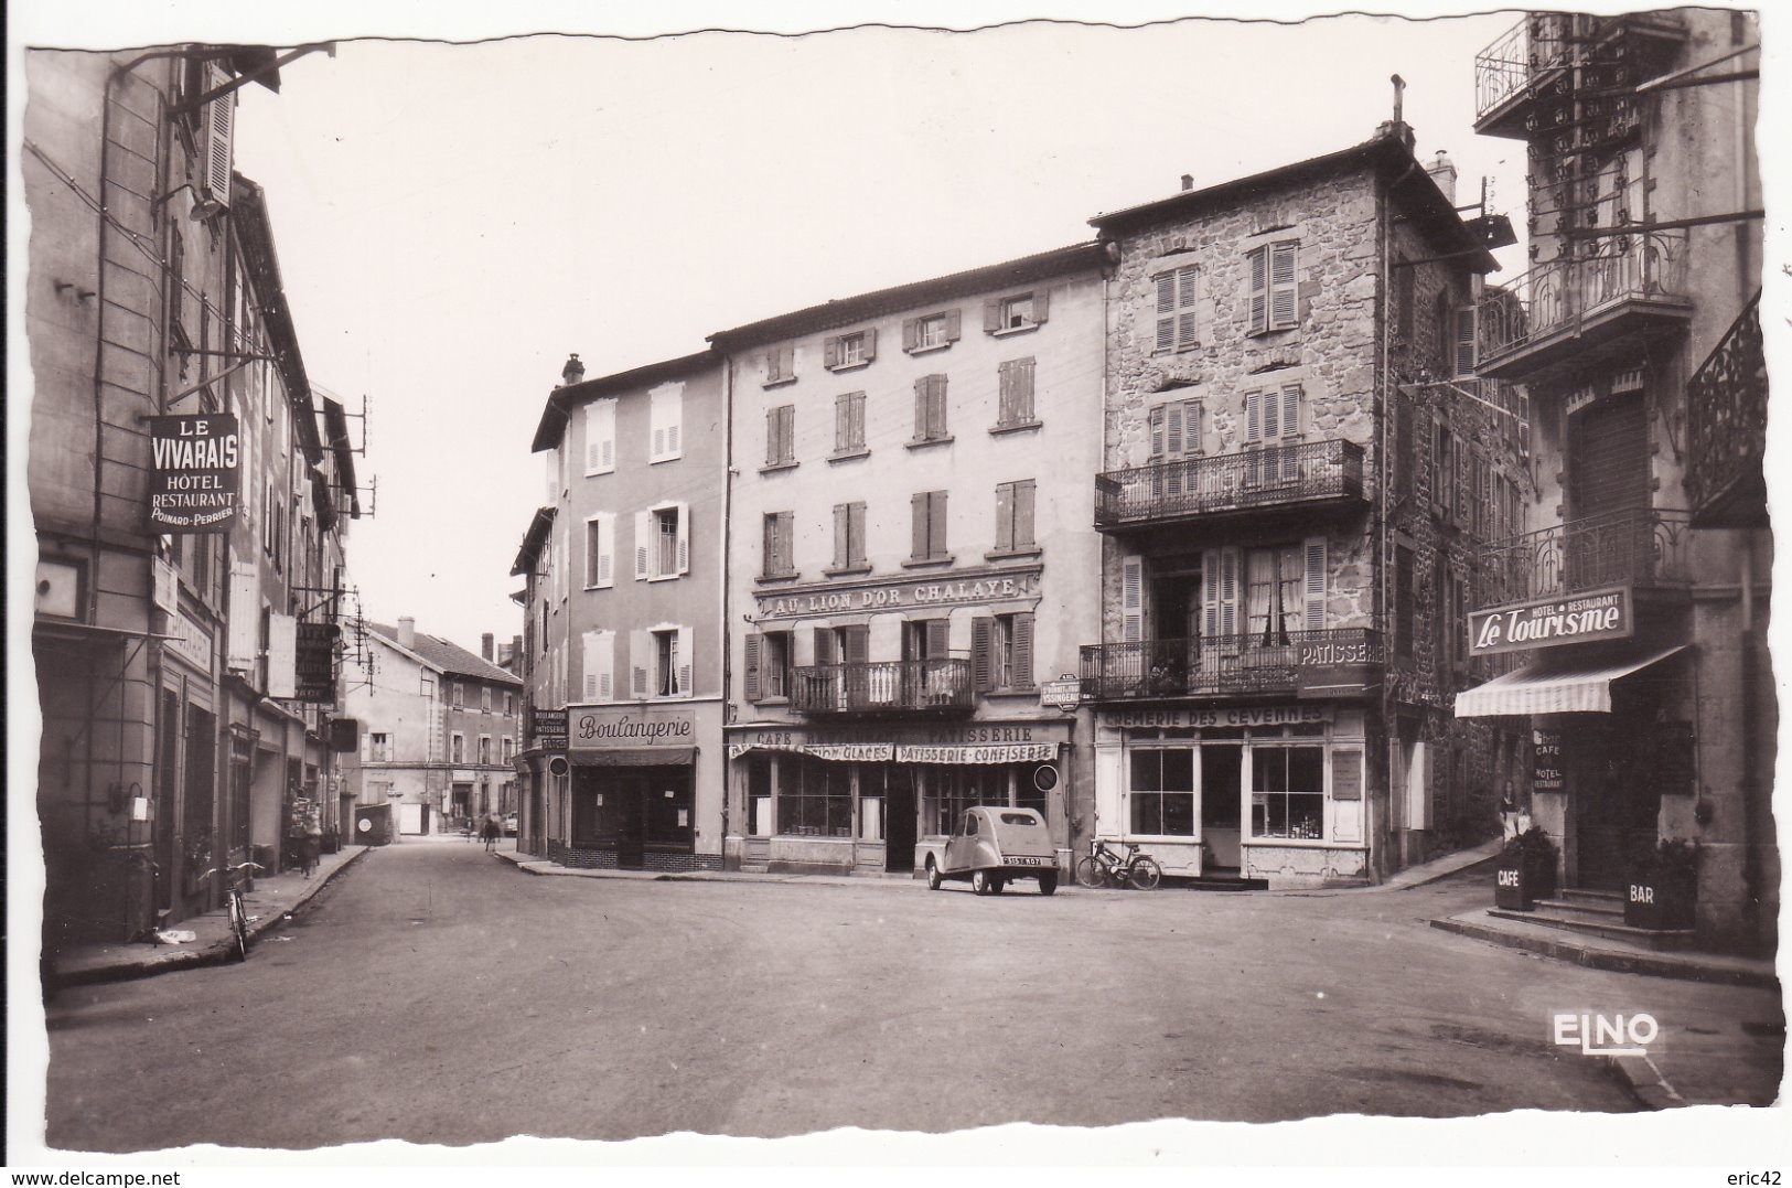
[[[1695,529],[1767,527],[1767,353],[1754,294],[1686,382],[1686,495]]]

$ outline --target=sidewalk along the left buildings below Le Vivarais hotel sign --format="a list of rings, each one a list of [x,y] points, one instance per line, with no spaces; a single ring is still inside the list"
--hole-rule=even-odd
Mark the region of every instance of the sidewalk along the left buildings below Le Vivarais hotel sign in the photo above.
[[[297,871],[256,878],[244,907],[249,912],[249,943],[278,928],[287,916],[315,896],[324,885],[360,860],[369,846],[346,846],[333,855],[319,855],[317,873],[305,878]],[[197,934],[186,944],[82,944],[56,957],[57,986],[88,982],[124,982],[168,969],[190,969],[233,957],[229,919],[224,908],[194,916],[174,925],[176,930]],[[253,957],[253,955],[251,955]]]

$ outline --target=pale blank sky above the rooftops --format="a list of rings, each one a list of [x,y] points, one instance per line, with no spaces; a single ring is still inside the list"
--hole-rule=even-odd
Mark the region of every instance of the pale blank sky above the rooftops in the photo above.
[[[1392,73],[1421,156],[1448,151],[1462,202],[1487,177],[1523,222],[1523,145],[1471,129],[1473,57],[1514,14],[358,36],[602,29],[527,9],[470,29],[357,13],[285,30],[339,38],[335,56],[289,65],[278,95],[246,88],[235,142],[267,192],[312,382],[349,412],[366,400],[357,469],[378,491],[349,541],[362,607],[466,647],[521,633],[509,570],[545,495],[529,446],[568,353],[595,378],[785,310],[1086,240],[1091,215],[1174,194],[1181,174],[1210,185],[1369,138]],[[106,29],[79,43],[113,43]],[[1503,263],[1520,271],[1521,249]]]

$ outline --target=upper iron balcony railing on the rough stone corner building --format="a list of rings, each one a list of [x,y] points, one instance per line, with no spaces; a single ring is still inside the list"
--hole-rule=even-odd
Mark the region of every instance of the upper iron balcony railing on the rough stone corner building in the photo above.
[[[1362,446],[1312,441],[1113,469],[1095,478],[1095,527],[1362,498]]]

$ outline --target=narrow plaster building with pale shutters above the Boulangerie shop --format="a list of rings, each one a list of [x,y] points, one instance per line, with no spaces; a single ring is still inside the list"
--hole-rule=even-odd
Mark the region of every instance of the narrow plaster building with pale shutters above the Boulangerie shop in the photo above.
[[[518,554],[521,844],[566,865],[719,869],[728,425],[701,351],[595,380],[573,357]]]

